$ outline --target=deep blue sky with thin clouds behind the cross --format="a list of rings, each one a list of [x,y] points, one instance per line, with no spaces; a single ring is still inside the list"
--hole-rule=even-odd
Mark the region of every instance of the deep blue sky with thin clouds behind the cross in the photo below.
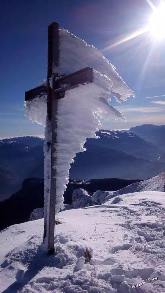
[[[165,97],[144,99],[165,95],[165,41],[152,49],[155,40],[145,33],[104,50],[147,24],[152,13],[147,1],[1,0],[1,12],[0,138],[44,133],[42,126],[24,117],[23,101],[24,92],[47,76],[47,27],[53,21],[102,50],[136,94],[122,106],[112,101],[127,122],[103,121],[103,128],[165,124],[165,105],[159,102]]]

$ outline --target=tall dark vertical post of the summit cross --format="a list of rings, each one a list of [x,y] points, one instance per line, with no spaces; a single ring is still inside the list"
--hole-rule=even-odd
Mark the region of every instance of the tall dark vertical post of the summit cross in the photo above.
[[[51,125],[51,142],[48,142],[48,147],[51,148],[51,174],[50,174],[50,202],[48,203],[48,218],[47,227],[44,226],[44,239],[47,236],[48,239],[48,253],[54,253],[54,221],[55,221],[55,204],[56,204],[56,169],[53,168],[53,163],[56,157],[53,156],[55,152],[54,145],[56,143],[56,132],[57,120],[55,115],[57,114],[57,99],[58,94],[53,92],[53,79],[58,74],[53,73],[53,67],[58,67],[59,59],[59,25],[53,22],[48,27],[48,75],[47,75],[47,117]]]

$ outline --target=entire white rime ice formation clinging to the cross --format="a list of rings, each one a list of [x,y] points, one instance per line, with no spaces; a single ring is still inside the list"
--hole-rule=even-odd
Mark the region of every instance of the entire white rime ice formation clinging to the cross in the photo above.
[[[97,138],[95,132],[101,127],[100,119],[124,119],[123,115],[112,107],[109,102],[115,96],[118,103],[123,103],[134,92],[128,88],[116,72],[116,68],[94,46],[77,38],[68,31],[59,30],[59,67],[54,67],[55,73],[70,74],[84,67],[92,67],[93,82],[65,92],[58,100],[57,110],[57,168],[56,175],[56,214],[64,208],[63,194],[68,183],[70,164],[78,152],[85,151],[83,147],[87,138]],[[47,97],[36,97],[25,103],[25,116],[32,122],[37,122],[45,128],[45,174],[50,168],[50,151],[46,142],[50,136],[48,121],[46,121]],[[49,180],[45,178],[45,212],[50,197]]]

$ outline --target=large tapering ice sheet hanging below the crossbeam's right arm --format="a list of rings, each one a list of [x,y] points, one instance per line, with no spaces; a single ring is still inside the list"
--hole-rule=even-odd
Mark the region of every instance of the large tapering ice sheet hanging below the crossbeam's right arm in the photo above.
[[[97,110],[97,115],[102,118],[121,117],[116,109],[107,107],[106,100],[105,104],[100,100],[101,94],[102,88],[91,83],[65,92],[65,97],[58,100],[56,213],[62,208],[61,195],[66,190],[69,168],[75,154],[85,150],[83,145],[87,137],[96,138],[100,121],[94,112]]]

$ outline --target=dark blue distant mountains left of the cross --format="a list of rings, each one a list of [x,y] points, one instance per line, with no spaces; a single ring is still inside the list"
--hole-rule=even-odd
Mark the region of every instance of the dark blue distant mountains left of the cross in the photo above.
[[[43,139],[23,136],[0,140],[0,201],[19,190],[29,177],[44,178]]]

